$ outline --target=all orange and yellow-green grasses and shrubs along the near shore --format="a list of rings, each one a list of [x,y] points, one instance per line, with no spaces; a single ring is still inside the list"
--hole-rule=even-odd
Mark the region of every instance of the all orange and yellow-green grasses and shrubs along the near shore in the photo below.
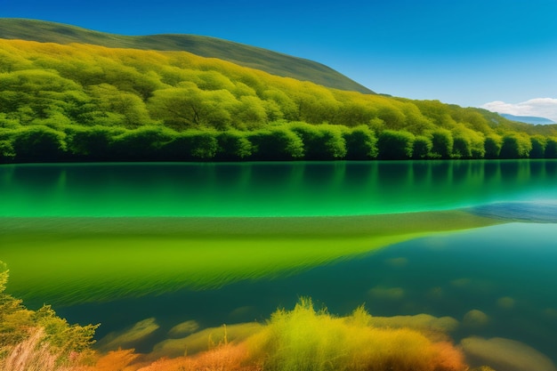
[[[91,348],[97,326],[70,326],[44,306],[29,311],[4,294],[0,271],[0,368],[5,371],[155,370],[371,370],[464,371],[464,355],[439,333],[374,327],[363,308],[339,318],[302,299],[293,311],[275,312],[246,336],[204,340],[206,351],[152,359],[133,350],[101,354]],[[249,324],[246,324],[249,325]],[[232,335],[232,333],[231,333]],[[484,368],[485,369],[485,368]]]

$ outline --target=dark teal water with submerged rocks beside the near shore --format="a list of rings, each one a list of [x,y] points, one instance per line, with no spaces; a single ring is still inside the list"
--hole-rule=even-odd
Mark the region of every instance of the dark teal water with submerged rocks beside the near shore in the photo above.
[[[470,336],[513,339],[557,360],[557,224],[512,223],[419,238],[326,264],[296,275],[246,280],[219,289],[181,290],[61,308],[70,319],[103,323],[99,335],[142,319],[157,318],[154,343],[177,324],[200,328],[264,320],[278,307],[292,308],[301,295],[346,315],[366,304],[375,317],[451,318],[458,343]],[[192,305],[195,303],[195,305]]]

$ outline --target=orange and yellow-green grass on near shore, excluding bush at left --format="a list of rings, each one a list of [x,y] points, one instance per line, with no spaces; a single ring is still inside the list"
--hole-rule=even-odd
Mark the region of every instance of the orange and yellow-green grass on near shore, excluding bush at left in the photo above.
[[[226,337],[194,356],[157,359],[131,367],[86,371],[465,371],[464,356],[448,341],[407,327],[373,327],[363,308],[341,318],[315,311],[302,299],[277,311],[241,343]],[[210,339],[207,338],[207,343]],[[130,353],[131,354],[131,353]],[[129,354],[123,354],[127,357]],[[145,358],[147,359],[147,358]],[[133,360],[133,359],[132,359]],[[127,364],[126,364],[127,366]]]

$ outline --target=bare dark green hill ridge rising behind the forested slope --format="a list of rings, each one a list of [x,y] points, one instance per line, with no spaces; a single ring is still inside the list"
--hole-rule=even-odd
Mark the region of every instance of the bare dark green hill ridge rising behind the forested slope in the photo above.
[[[115,48],[191,52],[219,58],[280,77],[293,77],[340,90],[374,93],[349,77],[312,60],[194,35],[120,36],[43,20],[0,18],[0,38],[57,44],[96,44]]]

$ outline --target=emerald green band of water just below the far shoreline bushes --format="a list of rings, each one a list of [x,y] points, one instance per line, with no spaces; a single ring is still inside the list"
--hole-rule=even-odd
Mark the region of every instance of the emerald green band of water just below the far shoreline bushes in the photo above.
[[[557,199],[557,161],[3,165],[0,216],[316,216]]]

